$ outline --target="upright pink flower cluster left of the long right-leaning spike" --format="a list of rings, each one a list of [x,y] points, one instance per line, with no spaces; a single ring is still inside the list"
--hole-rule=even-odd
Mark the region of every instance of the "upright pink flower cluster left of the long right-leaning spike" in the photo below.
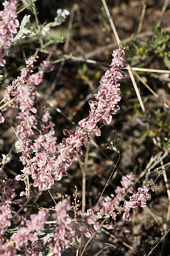
[[[54,124],[49,122],[49,115],[47,113],[44,114],[42,120],[44,123],[48,124],[42,127],[42,134],[37,136],[32,129],[33,125],[37,125],[37,123],[40,122],[40,118],[34,115],[37,112],[37,109],[34,107],[36,94],[35,85],[43,81],[44,73],[53,70],[53,66],[50,65],[50,56],[48,56],[47,59],[40,64],[38,72],[33,73],[32,68],[37,58],[36,52],[33,57],[30,57],[26,61],[27,66],[21,69],[21,75],[12,82],[12,85],[6,88],[5,97],[3,99],[3,109],[1,107],[1,110],[4,111],[4,106],[11,103],[13,108],[18,108],[21,111],[17,116],[18,119],[21,119],[21,123],[17,127],[17,135],[21,138],[18,142],[18,150],[22,153],[20,161],[25,167],[22,170],[23,174],[17,175],[16,179],[21,180],[23,178],[25,183],[27,183],[27,177],[25,177],[25,175],[31,174],[32,178],[35,180],[34,186],[37,187],[36,192],[39,193],[39,191],[45,188],[47,189],[49,184],[51,186],[51,184],[54,183],[54,177],[51,176],[53,175],[51,162],[55,156],[48,158],[47,155],[57,153],[58,148],[55,145]],[[47,132],[48,129],[50,129],[49,132]],[[33,139],[30,139],[30,136],[33,136]],[[36,156],[32,157],[34,152]],[[40,169],[37,168],[37,165]],[[49,174],[49,179],[45,178],[46,172]],[[40,176],[41,180],[37,180],[37,176]]]

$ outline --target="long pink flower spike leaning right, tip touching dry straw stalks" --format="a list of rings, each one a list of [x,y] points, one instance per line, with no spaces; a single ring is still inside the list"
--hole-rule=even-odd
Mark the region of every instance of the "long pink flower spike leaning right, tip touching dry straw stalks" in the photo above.
[[[103,120],[104,124],[109,124],[112,120],[111,114],[116,114],[119,110],[117,105],[120,101],[120,84],[117,82],[121,78],[125,78],[126,74],[121,70],[126,68],[127,65],[122,62],[124,58],[123,47],[120,45],[119,49],[113,51],[113,59],[111,63],[111,69],[107,70],[105,75],[101,78],[100,84],[103,85],[99,89],[98,93],[95,94],[97,101],[89,100],[89,105],[91,110],[89,111],[89,116],[82,119],[76,128],[75,132],[73,130],[64,129],[63,133],[68,138],[64,138],[63,142],[60,143],[61,154],[67,155],[69,153],[69,160],[72,160],[76,155],[81,156],[83,151],[81,146],[87,147],[88,140],[91,139],[89,133],[94,131],[97,136],[101,135],[100,129],[97,123]],[[76,150],[75,150],[76,149]]]

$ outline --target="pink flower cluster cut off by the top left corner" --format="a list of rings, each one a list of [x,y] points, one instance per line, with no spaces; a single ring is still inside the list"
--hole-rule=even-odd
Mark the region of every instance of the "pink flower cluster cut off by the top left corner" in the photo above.
[[[0,11],[0,66],[4,67],[6,61],[3,57],[6,55],[6,49],[11,47],[11,42],[17,33],[19,22],[16,14],[17,0],[7,0],[3,3],[4,10]]]

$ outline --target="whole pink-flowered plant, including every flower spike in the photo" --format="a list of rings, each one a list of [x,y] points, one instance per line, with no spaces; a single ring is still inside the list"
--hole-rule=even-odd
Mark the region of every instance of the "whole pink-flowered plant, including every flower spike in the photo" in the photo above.
[[[13,41],[13,33],[19,26],[16,19],[17,1],[8,0],[3,3],[4,11],[0,12],[3,20],[0,22],[0,65],[5,65],[6,49],[10,48]],[[66,14],[68,15],[68,13]],[[8,21],[8,22],[7,22]],[[28,22],[28,19],[27,19]],[[10,24],[10,25],[9,25]],[[22,24],[23,25],[23,24]],[[20,26],[21,28],[22,26]],[[28,25],[30,29],[30,23]],[[38,52],[26,60],[26,67],[21,69],[20,76],[12,81],[5,89],[4,98],[1,100],[0,123],[4,123],[4,112],[8,106],[18,109],[15,148],[20,153],[19,160],[23,165],[21,173],[11,180],[7,177],[4,166],[11,160],[11,151],[8,155],[2,155],[0,168],[0,256],[1,255],[43,255],[42,244],[36,235],[36,231],[43,230],[48,220],[49,210],[40,208],[37,214],[31,214],[30,219],[19,216],[24,207],[30,205],[32,197],[38,196],[44,191],[51,188],[55,181],[61,180],[62,176],[67,175],[68,168],[72,165],[72,160],[76,156],[82,156],[82,146],[88,146],[91,139],[90,132],[96,136],[101,135],[98,122],[110,124],[112,114],[120,109],[118,102],[120,96],[121,78],[126,78],[122,69],[127,66],[123,63],[124,48],[120,44],[119,48],[113,51],[113,59],[110,69],[107,70],[100,80],[101,88],[94,95],[96,100],[89,100],[90,111],[87,118],[83,118],[79,127],[75,131],[64,129],[64,136],[60,144],[57,144],[57,138],[54,132],[54,123],[51,121],[49,109],[44,107],[44,114],[40,118],[37,116],[35,106],[36,86],[43,82],[44,74],[51,72],[54,66],[51,65],[51,55],[40,63],[38,71],[34,72],[33,68],[38,59]],[[34,127],[38,126],[39,131]],[[130,221],[130,209],[138,205],[146,206],[150,199],[150,190],[155,191],[153,180],[138,188],[138,193],[134,193],[130,200],[124,198],[125,193],[133,193],[134,174],[131,172],[122,177],[121,187],[117,186],[115,194],[101,198],[99,201],[100,209],[95,211],[88,209],[82,212],[81,203],[78,197],[78,190],[75,186],[73,195],[74,203],[70,203],[70,196],[63,196],[63,200],[56,204],[52,217],[55,219],[55,229],[53,237],[48,241],[49,254],[60,256],[61,252],[70,246],[79,250],[79,244],[83,236],[90,238],[106,223],[106,228],[111,229],[117,225],[117,215],[123,212],[123,218]],[[26,195],[27,200],[22,207],[13,214],[14,204],[18,204],[13,184],[23,181],[25,190],[21,191],[20,197]],[[123,202],[123,206],[120,203]],[[71,218],[68,211],[73,209],[74,218]],[[19,216],[19,217],[18,217]],[[16,219],[18,217],[18,219]],[[14,222],[15,228],[10,229],[11,222]],[[71,223],[76,226],[72,227]],[[10,238],[5,239],[5,232],[13,233]],[[82,255],[82,254],[81,254]]]

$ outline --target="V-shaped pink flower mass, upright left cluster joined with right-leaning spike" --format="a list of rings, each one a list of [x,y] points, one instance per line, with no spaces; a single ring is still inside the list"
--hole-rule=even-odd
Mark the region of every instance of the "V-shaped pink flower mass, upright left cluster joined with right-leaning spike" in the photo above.
[[[120,78],[125,78],[125,73],[121,68],[126,65],[122,62],[124,57],[123,47],[113,52],[111,69],[106,71],[100,83],[103,85],[95,94],[96,101],[89,101],[91,110],[89,116],[79,122],[79,128],[73,132],[64,129],[63,142],[56,146],[56,137],[54,136],[54,124],[50,122],[50,114],[45,109],[42,120],[35,117],[37,112],[34,107],[36,87],[43,81],[45,72],[50,72],[53,67],[50,65],[50,58],[40,64],[39,71],[32,73],[32,67],[38,58],[37,53],[26,61],[26,68],[21,70],[21,76],[12,82],[11,86],[6,88],[3,110],[5,105],[12,103],[13,107],[19,108],[18,119],[21,119],[17,128],[17,135],[21,137],[19,141],[19,151],[22,153],[20,161],[23,163],[23,174],[16,176],[17,180],[23,180],[28,183],[28,175],[34,180],[33,186],[35,192],[49,189],[54,181],[61,180],[62,176],[67,175],[67,169],[71,166],[71,160],[76,156],[83,154],[81,146],[87,147],[90,132],[94,131],[100,136],[100,130],[97,123],[103,120],[104,124],[111,122],[111,114],[115,114],[119,109],[117,103],[120,97]],[[35,85],[34,85],[35,84]],[[10,97],[11,95],[11,97]],[[1,109],[2,109],[1,107]],[[2,118],[1,118],[2,119]],[[32,126],[41,123],[41,133],[33,132]],[[30,136],[33,136],[30,139]],[[34,156],[33,156],[34,154]],[[31,183],[30,183],[31,185]],[[29,187],[27,188],[29,189]],[[23,195],[22,193],[21,195]]]

